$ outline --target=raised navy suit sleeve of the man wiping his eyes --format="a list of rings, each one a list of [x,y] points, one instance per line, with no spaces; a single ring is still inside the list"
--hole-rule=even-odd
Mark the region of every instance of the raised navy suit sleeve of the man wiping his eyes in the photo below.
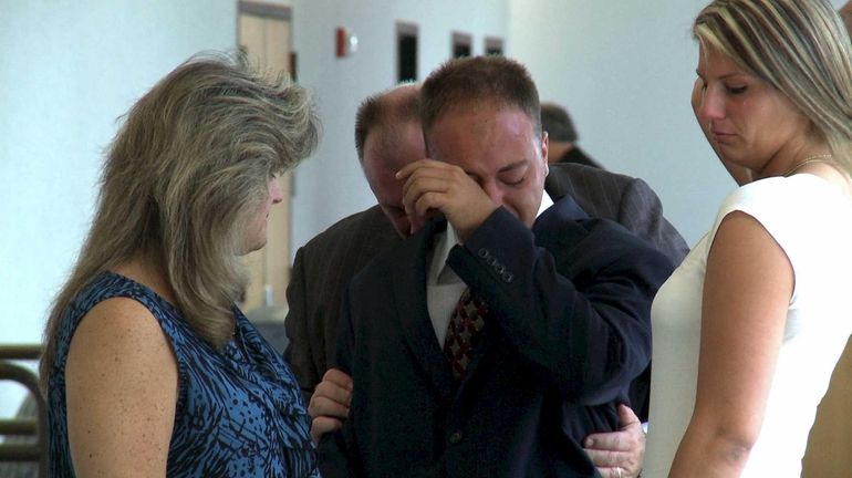
[[[673,266],[610,221],[561,221],[548,237],[557,258],[498,208],[448,263],[544,384],[611,402],[651,360],[651,302]]]

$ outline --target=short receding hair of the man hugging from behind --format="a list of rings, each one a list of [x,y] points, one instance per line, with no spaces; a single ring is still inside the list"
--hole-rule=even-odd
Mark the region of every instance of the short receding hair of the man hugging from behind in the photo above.
[[[412,87],[412,94],[391,95],[402,87]],[[355,114],[355,149],[359,160],[364,160],[364,144],[374,127],[395,126],[419,119],[420,95],[415,83],[403,83],[364,100]]]

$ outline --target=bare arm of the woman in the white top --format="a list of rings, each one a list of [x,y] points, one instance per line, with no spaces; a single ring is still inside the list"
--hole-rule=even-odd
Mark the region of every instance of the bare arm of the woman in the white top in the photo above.
[[[698,385],[671,477],[737,477],[757,439],[793,289],[781,247],[751,216],[721,222],[707,260]]]

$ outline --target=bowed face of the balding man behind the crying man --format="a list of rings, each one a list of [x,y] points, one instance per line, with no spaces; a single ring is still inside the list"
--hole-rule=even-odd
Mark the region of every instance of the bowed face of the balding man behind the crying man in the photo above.
[[[387,135],[394,135],[389,141]],[[403,207],[403,183],[396,172],[426,156],[419,123],[408,122],[396,128],[375,127],[364,141],[364,174],[394,229],[402,237],[411,235],[412,225]]]

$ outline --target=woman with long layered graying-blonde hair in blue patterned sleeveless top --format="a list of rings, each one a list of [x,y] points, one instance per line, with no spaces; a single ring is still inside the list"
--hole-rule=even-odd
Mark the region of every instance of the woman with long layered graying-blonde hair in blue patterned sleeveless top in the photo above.
[[[303,89],[222,56],[131,108],[45,330],[51,476],[319,475],[299,386],[235,305],[318,127]]]

